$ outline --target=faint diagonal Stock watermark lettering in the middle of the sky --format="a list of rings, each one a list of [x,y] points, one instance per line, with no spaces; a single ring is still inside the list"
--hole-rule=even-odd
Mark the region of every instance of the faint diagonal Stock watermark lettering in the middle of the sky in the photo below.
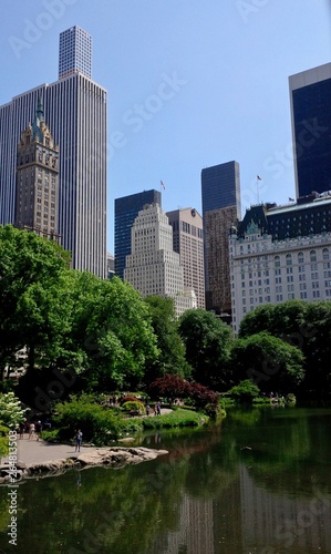
[[[115,130],[111,133],[106,145],[106,156],[108,160],[114,157],[116,150],[126,146],[128,142],[128,129],[133,134],[139,133],[145,124],[153,120],[164,105],[174,99],[187,84],[187,81],[180,79],[176,71],[170,75],[162,73],[161,78],[162,81],[153,94],[149,94],[144,102],[136,102],[130,110],[123,113],[122,123],[126,129],[124,131]]]

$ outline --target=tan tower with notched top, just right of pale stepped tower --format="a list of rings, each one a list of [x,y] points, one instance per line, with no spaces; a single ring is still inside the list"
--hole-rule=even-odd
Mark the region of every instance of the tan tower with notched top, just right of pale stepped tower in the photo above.
[[[173,227],[173,247],[184,269],[184,286],[193,288],[197,307],[205,308],[203,217],[195,208],[167,212]]]

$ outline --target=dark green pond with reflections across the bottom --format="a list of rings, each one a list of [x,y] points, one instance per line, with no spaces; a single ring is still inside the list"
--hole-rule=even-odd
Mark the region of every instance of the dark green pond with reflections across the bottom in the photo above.
[[[331,409],[267,407],[144,437],[169,454],[21,483],[17,546],[2,486],[0,553],[330,554],[330,431]]]

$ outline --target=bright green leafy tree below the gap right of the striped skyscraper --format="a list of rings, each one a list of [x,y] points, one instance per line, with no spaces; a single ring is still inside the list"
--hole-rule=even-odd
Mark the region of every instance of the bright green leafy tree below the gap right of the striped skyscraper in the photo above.
[[[138,387],[145,367],[158,358],[147,305],[118,278],[83,276],[82,280],[84,300],[73,326],[84,352],[82,377],[90,390]]]

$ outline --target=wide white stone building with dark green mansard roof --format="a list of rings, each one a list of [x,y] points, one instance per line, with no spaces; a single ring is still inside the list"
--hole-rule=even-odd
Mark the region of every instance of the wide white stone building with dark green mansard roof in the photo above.
[[[249,209],[229,250],[235,332],[263,304],[331,300],[331,198]]]

